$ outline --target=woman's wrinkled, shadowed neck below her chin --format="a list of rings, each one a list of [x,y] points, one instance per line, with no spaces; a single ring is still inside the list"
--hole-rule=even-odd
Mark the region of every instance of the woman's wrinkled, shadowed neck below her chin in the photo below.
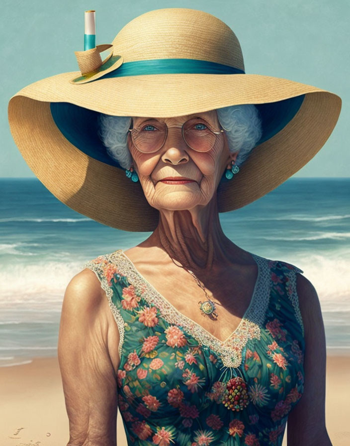
[[[221,228],[216,196],[205,207],[161,210],[159,224],[148,241],[193,272],[210,271],[214,264],[228,262],[228,252],[235,246]]]

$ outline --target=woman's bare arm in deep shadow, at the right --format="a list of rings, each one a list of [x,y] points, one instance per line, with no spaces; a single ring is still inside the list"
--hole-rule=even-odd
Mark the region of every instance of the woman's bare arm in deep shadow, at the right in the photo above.
[[[297,274],[304,324],[304,393],[288,416],[288,446],[332,446],[325,422],[326,338],[320,301],[312,283]]]

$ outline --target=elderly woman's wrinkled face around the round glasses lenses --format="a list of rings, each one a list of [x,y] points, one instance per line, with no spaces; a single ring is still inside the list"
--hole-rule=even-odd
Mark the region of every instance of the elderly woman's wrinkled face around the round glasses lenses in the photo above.
[[[198,152],[190,148],[182,137],[181,127],[193,117],[204,119],[216,131],[221,129],[215,110],[156,118],[167,124],[168,135],[164,145],[153,153],[138,150],[129,132],[128,147],[134,168],[148,203],[158,210],[179,211],[207,205],[216,192],[227,164],[237,157],[238,152],[230,153],[226,136],[222,132],[216,135],[209,151]],[[139,129],[149,120],[149,117],[133,117],[133,127]],[[147,127],[146,130],[152,131],[154,127]]]

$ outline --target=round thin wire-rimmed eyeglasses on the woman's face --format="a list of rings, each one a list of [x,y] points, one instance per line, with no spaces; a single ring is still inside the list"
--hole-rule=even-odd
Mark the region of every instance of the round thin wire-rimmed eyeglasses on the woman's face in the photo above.
[[[148,119],[137,128],[129,128],[135,147],[142,153],[160,150],[168,136],[168,126],[158,119]],[[224,129],[216,130],[203,118],[191,118],[181,126],[185,143],[196,152],[208,152]]]

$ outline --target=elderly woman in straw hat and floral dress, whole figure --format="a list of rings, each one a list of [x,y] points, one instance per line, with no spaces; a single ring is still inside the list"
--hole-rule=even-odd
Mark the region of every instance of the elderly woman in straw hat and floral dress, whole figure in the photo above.
[[[340,99],[246,75],[232,30],[191,9],[137,17],[81,71],[11,99],[14,139],[62,202],[152,233],[67,287],[68,445],[115,445],[118,408],[128,445],[281,445],[287,420],[288,446],[331,445],[317,293],[296,266],[226,237],[219,212],[305,165]]]

